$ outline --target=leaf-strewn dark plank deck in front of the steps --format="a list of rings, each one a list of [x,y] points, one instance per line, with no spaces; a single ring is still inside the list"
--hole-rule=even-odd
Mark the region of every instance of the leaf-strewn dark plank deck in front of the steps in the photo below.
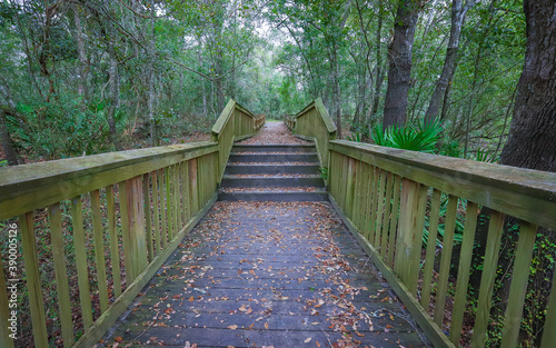
[[[325,202],[217,202],[100,347],[430,347]]]

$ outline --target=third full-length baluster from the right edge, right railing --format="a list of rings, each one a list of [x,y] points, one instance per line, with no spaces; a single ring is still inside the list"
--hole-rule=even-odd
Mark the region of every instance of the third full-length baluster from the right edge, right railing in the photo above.
[[[467,202],[464,240],[461,241],[461,252],[459,253],[457,270],[456,296],[454,297],[454,309],[451,310],[450,340],[456,346],[459,346],[465,305],[467,304],[467,285],[469,282],[473,242],[475,240],[478,210],[479,207],[476,203],[470,201]]]

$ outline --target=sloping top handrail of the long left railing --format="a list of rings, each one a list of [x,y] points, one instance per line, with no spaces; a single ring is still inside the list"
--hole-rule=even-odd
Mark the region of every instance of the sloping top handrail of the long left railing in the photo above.
[[[0,168],[0,220],[216,151],[198,142]]]

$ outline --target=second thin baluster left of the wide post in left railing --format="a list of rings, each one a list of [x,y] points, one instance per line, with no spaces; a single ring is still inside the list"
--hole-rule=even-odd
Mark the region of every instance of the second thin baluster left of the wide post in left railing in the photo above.
[[[102,216],[100,215],[100,192],[99,190],[91,191],[91,209],[92,209],[92,232],[95,239],[95,260],[97,262],[97,277],[99,287],[100,311],[105,312],[108,309],[108,291],[106,279],[106,261],[105,261],[105,242],[102,230]]]

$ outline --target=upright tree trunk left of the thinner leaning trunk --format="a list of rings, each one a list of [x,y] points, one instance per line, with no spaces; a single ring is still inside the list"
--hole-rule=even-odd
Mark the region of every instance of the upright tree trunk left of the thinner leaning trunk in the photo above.
[[[399,0],[394,24],[394,40],[388,49],[388,89],[383,127],[406,123],[407,93],[411,79],[411,49],[423,0]]]

